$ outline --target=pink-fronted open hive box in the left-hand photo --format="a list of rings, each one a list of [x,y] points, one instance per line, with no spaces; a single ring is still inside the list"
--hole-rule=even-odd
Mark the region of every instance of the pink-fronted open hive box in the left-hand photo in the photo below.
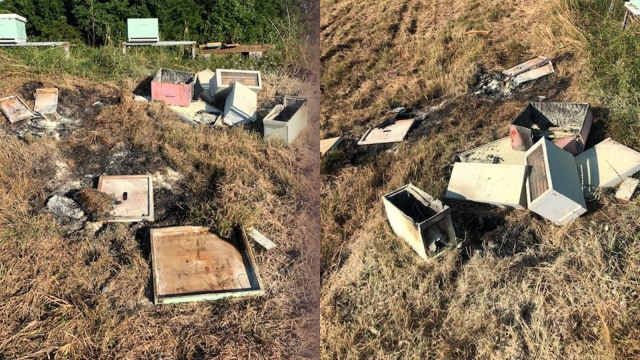
[[[195,86],[195,75],[186,71],[160,69],[151,81],[151,100],[169,105],[189,106]]]

